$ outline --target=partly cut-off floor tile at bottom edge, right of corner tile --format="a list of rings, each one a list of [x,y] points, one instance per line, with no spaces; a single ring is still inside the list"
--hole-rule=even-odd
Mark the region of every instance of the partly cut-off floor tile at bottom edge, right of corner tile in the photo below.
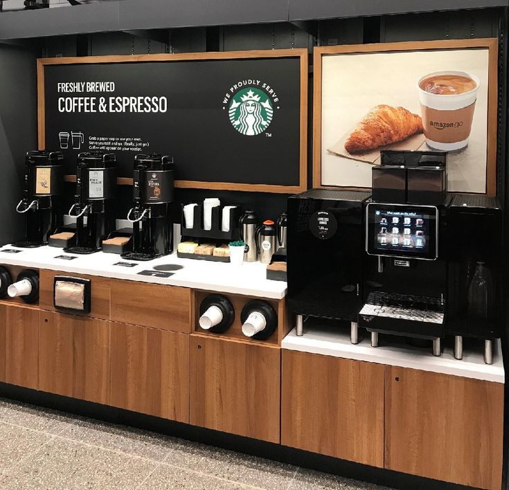
[[[215,489],[249,489],[243,484],[220,480],[203,473],[195,473],[173,466],[161,464],[150,477],[143,482],[140,489],[186,489],[186,490],[215,490]]]

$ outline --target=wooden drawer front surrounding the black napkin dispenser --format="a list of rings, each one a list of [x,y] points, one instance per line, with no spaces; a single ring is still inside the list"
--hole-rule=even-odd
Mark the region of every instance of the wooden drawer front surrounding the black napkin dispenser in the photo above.
[[[97,275],[71,274],[67,272],[46,271],[39,273],[39,306],[48,311],[55,309],[53,295],[55,275],[66,275],[71,278],[90,280],[91,311],[87,316],[109,320],[109,278],[101,278]],[[127,282],[127,281],[126,281]]]

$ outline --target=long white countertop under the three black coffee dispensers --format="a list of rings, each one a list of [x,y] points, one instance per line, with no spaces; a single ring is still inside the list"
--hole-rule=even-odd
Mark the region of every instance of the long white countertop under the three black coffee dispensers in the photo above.
[[[6,253],[1,250],[10,248],[21,250],[19,253]],[[73,260],[55,258],[57,255],[71,255]],[[134,267],[114,266],[116,262],[132,262]],[[260,262],[244,262],[233,266],[224,262],[206,260],[180,259],[177,254],[166,255],[146,262],[124,260],[114,253],[91,253],[78,255],[66,253],[62,248],[42,246],[39,248],[17,248],[12,245],[0,247],[0,265],[17,265],[33,269],[51,269],[66,273],[99,275],[107,278],[125,279],[140,282],[154,282],[170,286],[206,289],[221,293],[243,294],[258,298],[281,299],[287,291],[283,281],[272,281],[266,278],[266,267]],[[179,264],[184,269],[175,271],[170,278],[157,278],[149,275],[138,275],[140,271],[150,270],[160,264]]]

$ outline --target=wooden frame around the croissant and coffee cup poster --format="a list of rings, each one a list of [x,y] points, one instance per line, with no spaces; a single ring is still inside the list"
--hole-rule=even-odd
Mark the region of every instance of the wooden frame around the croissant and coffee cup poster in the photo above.
[[[439,41],[393,42],[380,44],[359,44],[355,46],[321,46],[314,48],[314,90],[313,90],[313,187],[332,188],[321,183],[321,96],[322,56],[331,54],[384,53],[397,51],[443,51],[445,49],[488,48],[488,152],[486,163],[486,194],[497,192],[497,38],[447,39]],[[357,188],[359,189],[359,188]],[[367,189],[368,190],[368,189]]]

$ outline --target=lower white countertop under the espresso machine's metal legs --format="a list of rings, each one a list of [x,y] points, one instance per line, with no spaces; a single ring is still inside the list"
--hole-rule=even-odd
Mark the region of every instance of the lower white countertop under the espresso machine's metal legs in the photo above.
[[[371,347],[368,333],[359,329],[359,343],[350,343],[350,329],[313,325],[306,328],[304,335],[296,336],[292,330],[281,343],[283,349],[323,354],[325,356],[343,357],[356,361],[368,361],[386,365],[400,366],[423,371],[439,372],[463,376],[465,378],[482,379],[503,383],[505,374],[503,370],[500,341],[494,343],[494,362],[492,365],[484,363],[482,347],[477,350],[467,348],[463,350],[463,359],[454,359],[452,348],[445,347],[442,356],[434,356],[429,349],[411,347],[403,337],[395,343],[394,337],[379,335],[379,347]],[[391,340],[393,343],[391,344]]]

